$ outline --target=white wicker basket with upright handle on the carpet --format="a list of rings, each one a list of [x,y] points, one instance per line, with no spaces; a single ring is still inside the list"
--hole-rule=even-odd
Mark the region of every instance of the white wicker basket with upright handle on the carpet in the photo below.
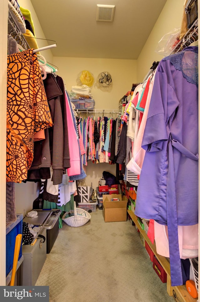
[[[68,214],[68,212],[66,212],[62,217],[62,220],[70,227],[80,227],[87,223],[91,218],[91,215],[87,211],[76,207],[76,202],[74,202],[74,210],[70,212],[74,213],[74,216],[65,218],[65,216]]]

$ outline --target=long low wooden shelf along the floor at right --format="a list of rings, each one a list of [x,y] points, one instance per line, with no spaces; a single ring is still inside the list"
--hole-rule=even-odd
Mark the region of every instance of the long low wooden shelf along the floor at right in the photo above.
[[[190,294],[187,292],[186,286],[171,286],[171,277],[170,277],[170,263],[169,258],[163,257],[156,252],[156,245],[155,243],[152,244],[150,239],[147,236],[147,233],[142,230],[140,224],[138,223],[138,219],[135,216],[135,214],[131,210],[127,210],[129,216],[137,226],[138,230],[142,234],[144,240],[148,243],[149,247],[153,251],[154,255],[162,265],[163,269],[167,273],[167,292],[170,296],[173,296],[174,300],[177,302],[197,302],[197,299],[194,299],[190,296]]]

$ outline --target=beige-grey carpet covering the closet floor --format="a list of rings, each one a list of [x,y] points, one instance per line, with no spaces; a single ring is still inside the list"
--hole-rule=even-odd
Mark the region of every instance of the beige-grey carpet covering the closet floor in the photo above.
[[[63,222],[36,285],[50,302],[172,302],[129,220],[105,223],[102,210],[75,228]]]

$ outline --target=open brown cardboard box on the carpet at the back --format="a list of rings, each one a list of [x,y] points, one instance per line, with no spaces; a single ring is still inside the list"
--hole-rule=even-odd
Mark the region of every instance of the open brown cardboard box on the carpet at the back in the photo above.
[[[119,201],[111,201],[119,198]],[[105,222],[116,222],[127,220],[128,198],[121,194],[103,195],[103,218]]]

